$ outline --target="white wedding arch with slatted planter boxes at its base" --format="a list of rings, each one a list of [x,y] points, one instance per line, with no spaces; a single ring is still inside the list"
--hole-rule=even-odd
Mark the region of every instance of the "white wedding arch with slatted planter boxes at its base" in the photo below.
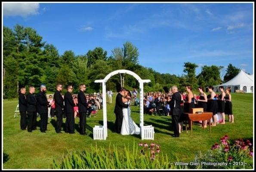
[[[141,138],[143,139],[152,139],[154,140],[154,127],[152,126],[144,126],[144,116],[143,116],[143,83],[149,83],[150,80],[142,80],[139,75],[134,73],[133,71],[129,70],[117,70],[109,73],[103,80],[95,80],[95,83],[102,83],[102,97],[103,97],[103,126],[95,126],[93,128],[93,139],[94,140],[106,140],[108,137],[108,127],[107,127],[107,101],[106,101],[106,83],[107,81],[116,74],[130,74],[131,76],[135,77],[136,80],[139,82],[139,109],[140,109],[140,118],[139,118],[139,126],[140,126],[140,133]]]

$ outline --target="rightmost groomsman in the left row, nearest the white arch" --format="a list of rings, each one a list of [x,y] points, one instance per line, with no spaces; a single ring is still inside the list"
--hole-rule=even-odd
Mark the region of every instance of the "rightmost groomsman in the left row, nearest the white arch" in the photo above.
[[[79,126],[80,126],[80,134],[87,135],[86,133],[86,112],[87,112],[87,103],[84,95],[84,91],[86,90],[85,84],[80,85],[80,90],[78,93],[78,111],[79,111]]]

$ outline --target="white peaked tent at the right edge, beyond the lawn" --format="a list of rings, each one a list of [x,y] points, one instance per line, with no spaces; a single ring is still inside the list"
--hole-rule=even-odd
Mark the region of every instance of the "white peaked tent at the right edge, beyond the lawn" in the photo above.
[[[219,86],[224,86],[225,89],[231,87],[231,92],[236,92],[236,90],[240,90],[240,92],[253,92],[253,75],[248,75],[241,70],[237,76],[228,82],[214,86],[214,91],[219,91]]]

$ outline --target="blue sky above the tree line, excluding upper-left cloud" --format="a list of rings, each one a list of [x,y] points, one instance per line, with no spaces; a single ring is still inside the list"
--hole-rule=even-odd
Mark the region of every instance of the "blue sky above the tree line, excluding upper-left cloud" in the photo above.
[[[253,74],[253,3],[4,3],[3,25],[34,28],[62,55],[111,50],[126,41],[139,63],[183,74],[184,62],[229,63]],[[222,75],[225,74],[225,69]]]

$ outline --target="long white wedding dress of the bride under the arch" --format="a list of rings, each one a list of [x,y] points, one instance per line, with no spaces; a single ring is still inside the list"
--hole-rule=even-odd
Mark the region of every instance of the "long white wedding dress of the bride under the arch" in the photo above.
[[[129,104],[126,102],[125,104]],[[123,122],[121,128],[121,135],[139,135],[140,128],[136,125],[131,117],[131,107],[123,108]]]

